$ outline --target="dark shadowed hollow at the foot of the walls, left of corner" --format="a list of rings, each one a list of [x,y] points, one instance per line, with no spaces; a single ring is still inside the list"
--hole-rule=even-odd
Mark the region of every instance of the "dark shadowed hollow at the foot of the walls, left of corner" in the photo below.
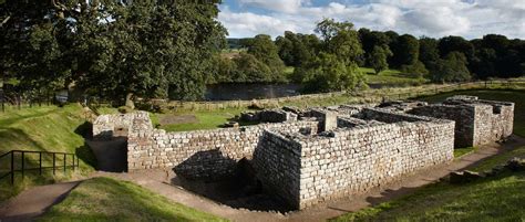
[[[235,209],[291,211],[284,201],[265,192],[257,172],[246,158],[239,161],[219,149],[199,151],[173,168],[172,184]]]

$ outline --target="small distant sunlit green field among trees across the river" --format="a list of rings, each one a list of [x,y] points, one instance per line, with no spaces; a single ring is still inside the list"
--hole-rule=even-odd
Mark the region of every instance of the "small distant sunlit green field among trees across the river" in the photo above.
[[[397,85],[397,86],[408,86],[408,85],[421,85],[428,83],[425,78],[415,78],[409,76],[397,70],[385,70],[381,73],[375,74],[375,71],[370,67],[360,67],[362,73],[367,74],[367,82],[369,84],[385,84],[385,85]]]

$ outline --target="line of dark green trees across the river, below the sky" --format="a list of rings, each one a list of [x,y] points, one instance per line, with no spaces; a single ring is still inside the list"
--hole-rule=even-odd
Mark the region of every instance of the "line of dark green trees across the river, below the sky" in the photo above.
[[[326,19],[317,24],[316,34],[287,31],[275,42],[268,40],[267,35],[257,35],[254,39],[229,41],[230,45],[247,49],[247,52],[233,59],[223,56],[216,60],[218,70],[214,80],[292,81],[302,83],[307,91],[322,92],[360,85],[362,74],[351,68],[356,65],[372,67],[377,74],[395,68],[412,77],[425,77],[435,83],[505,78],[525,74],[525,41],[509,40],[497,34],[475,40],[461,36],[418,39],[393,31],[354,30],[352,23]],[[253,49],[254,43],[257,50]],[[292,75],[287,76],[281,72],[281,63],[276,59],[276,49],[282,63],[295,67]],[[266,56],[271,57],[271,62],[264,61]],[[249,63],[244,64],[245,62]],[[350,70],[342,66],[350,66]],[[270,67],[278,68],[270,71]],[[320,72],[326,74],[321,75]],[[357,83],[344,86],[343,78]]]

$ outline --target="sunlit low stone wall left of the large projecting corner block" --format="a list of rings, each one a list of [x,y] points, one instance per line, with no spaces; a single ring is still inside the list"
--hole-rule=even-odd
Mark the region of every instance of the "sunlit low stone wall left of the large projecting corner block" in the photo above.
[[[241,158],[250,158],[264,130],[317,131],[317,121],[260,124],[223,128],[166,133],[138,131],[128,137],[128,170],[173,168],[192,179],[217,179],[231,175]]]

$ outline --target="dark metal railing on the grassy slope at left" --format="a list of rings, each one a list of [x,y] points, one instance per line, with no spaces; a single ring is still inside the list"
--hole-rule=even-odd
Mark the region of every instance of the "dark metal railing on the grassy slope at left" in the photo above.
[[[16,158],[16,154],[20,154],[20,159]],[[25,158],[28,155],[38,155],[39,156],[39,167],[38,168],[27,168],[25,167]],[[53,166],[43,166],[42,157],[43,156],[52,156],[53,157]],[[58,158],[62,158],[62,165],[58,165]],[[9,158],[10,157],[10,158]],[[68,158],[70,157],[70,158]],[[72,168],[73,171],[79,168],[79,158],[74,154],[68,154],[68,152],[51,152],[51,151],[30,151],[30,150],[11,150],[9,152],[6,152],[3,155],[0,155],[0,163],[6,159],[9,158],[10,167],[9,167],[9,172],[0,175],[0,180],[3,178],[10,177],[11,178],[11,184],[14,184],[14,173],[16,172],[21,172],[22,178],[25,173],[25,171],[32,171],[32,170],[39,170],[39,173],[42,175],[43,170],[45,169],[52,169],[53,175],[56,175],[56,169],[63,168],[63,171],[65,173],[68,168]],[[68,165],[68,160],[70,160],[71,165]],[[17,160],[20,160],[20,168],[16,169],[16,162]]]

